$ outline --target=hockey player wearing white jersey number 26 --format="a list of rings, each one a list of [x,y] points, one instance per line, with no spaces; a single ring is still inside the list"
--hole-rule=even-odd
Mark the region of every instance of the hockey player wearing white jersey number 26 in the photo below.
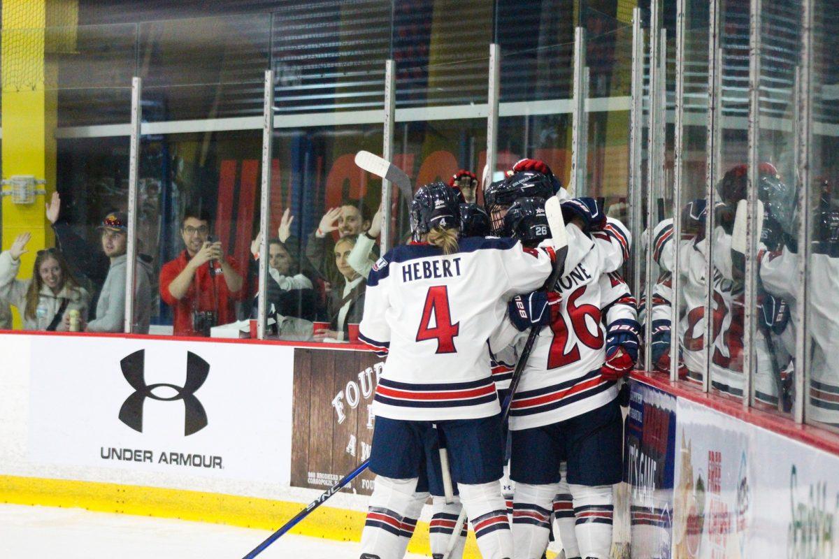
[[[505,220],[516,220],[519,206],[526,208],[529,204],[529,199],[519,199],[509,208]],[[563,210],[592,235],[608,237],[601,230],[602,211],[594,200],[568,200]],[[599,225],[592,227],[593,222]],[[516,225],[510,223],[508,227],[515,229]],[[524,310],[515,320],[519,329],[541,320],[550,323],[534,346],[513,398],[510,418],[511,477],[516,482],[513,538],[516,557],[527,559],[539,559],[547,546],[553,501],[557,494],[563,494],[559,490],[559,463],[563,459],[569,461],[574,511],[573,516],[564,511],[560,517],[576,524],[582,556],[608,555],[612,545],[612,484],[620,480],[622,462],[614,380],[632,368],[638,351],[634,300],[619,276],[601,273],[612,272],[610,267],[622,264],[623,251],[616,259],[607,250],[612,246],[609,239],[592,238],[575,225],[568,229],[571,241],[565,270],[570,273],[557,283],[563,297],[550,295],[544,300],[534,294],[518,304],[511,303],[511,317],[516,318],[517,309]],[[596,241],[606,248],[601,251]],[[627,297],[623,303],[628,304],[610,308],[604,302],[620,298],[612,295],[612,289],[622,283]],[[600,305],[609,315],[608,334],[601,322]],[[580,362],[582,367],[574,372]],[[560,507],[565,502],[567,499],[560,499]]]

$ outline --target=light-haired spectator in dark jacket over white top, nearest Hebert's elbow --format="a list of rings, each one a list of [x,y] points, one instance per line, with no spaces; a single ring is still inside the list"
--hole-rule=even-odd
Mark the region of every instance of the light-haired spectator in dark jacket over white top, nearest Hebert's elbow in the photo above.
[[[341,282],[333,284],[328,304],[330,329],[315,333],[315,341],[349,339],[349,324],[357,324],[364,313],[365,278],[352,269],[349,256],[356,246],[357,236],[345,236],[335,244],[335,264],[341,272]]]

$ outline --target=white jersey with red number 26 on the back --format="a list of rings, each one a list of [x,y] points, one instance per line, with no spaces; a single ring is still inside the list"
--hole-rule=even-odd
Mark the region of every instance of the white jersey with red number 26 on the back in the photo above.
[[[605,329],[602,308],[614,298],[612,278],[623,265],[622,243],[610,234],[586,236],[568,225],[565,275],[556,282],[562,296],[550,327],[539,331],[510,409],[510,428],[550,425],[604,406],[618,395],[614,382],[603,380]],[[620,230],[627,240],[628,233]],[[602,242],[601,242],[602,241]],[[616,253],[616,249],[618,253]],[[625,283],[623,284],[625,286]]]

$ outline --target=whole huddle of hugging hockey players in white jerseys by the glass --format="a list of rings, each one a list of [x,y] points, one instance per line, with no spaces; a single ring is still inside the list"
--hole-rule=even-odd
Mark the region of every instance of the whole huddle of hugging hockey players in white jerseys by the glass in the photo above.
[[[638,359],[637,305],[621,275],[631,239],[596,200],[571,199],[545,163],[524,159],[507,175],[483,208],[465,202],[463,176],[418,189],[412,241],[370,272],[359,339],[387,360],[362,559],[404,556],[429,495],[435,557],[462,555],[465,528],[451,537],[461,510],[486,559],[540,559],[552,527],[566,557],[609,556],[619,386]],[[554,196],[561,258],[545,215]]]

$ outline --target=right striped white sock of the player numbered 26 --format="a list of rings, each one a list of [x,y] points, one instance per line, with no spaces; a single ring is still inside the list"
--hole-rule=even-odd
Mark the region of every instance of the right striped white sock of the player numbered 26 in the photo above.
[[[574,497],[580,555],[607,559],[612,550],[612,485],[568,484]]]

